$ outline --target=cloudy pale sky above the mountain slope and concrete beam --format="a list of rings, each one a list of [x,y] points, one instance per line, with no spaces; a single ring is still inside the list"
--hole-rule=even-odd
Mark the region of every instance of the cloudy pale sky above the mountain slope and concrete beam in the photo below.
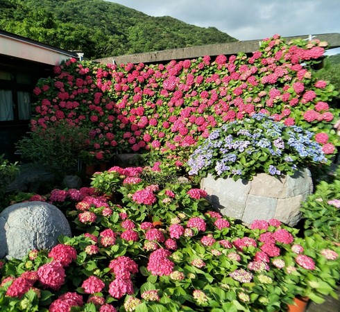
[[[237,40],[340,33],[339,0],[106,1],[151,16],[169,15],[196,26],[214,26]]]

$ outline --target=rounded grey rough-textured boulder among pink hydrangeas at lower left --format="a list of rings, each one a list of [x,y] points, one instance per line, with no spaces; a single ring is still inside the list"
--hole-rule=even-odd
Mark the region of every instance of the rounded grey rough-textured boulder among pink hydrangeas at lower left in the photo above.
[[[71,236],[64,214],[46,202],[20,202],[0,214],[0,258],[22,259],[29,250],[51,249]]]

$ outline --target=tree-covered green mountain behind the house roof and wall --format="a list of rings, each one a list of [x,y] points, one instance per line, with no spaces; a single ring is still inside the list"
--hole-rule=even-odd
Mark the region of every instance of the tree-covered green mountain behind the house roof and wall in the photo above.
[[[214,27],[103,0],[0,0],[0,29],[81,50],[87,59],[237,41]]]

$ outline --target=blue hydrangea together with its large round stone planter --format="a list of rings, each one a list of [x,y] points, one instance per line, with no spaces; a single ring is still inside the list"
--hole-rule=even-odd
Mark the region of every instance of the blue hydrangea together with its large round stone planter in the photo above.
[[[201,188],[223,214],[296,225],[300,202],[312,193],[308,168],[328,159],[312,132],[253,114],[212,131],[187,164],[189,175],[207,177]]]

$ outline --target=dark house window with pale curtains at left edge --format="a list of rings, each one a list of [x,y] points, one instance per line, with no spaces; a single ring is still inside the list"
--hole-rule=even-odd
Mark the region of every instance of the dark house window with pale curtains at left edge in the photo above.
[[[0,71],[0,121],[31,119],[31,76]]]

